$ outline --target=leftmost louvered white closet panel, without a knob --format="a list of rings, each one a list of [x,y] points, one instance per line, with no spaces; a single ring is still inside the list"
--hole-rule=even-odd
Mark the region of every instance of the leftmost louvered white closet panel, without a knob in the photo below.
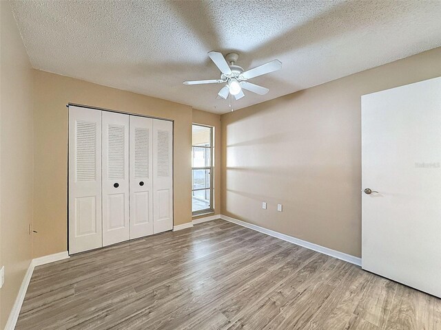
[[[69,107],[69,253],[100,248],[101,111]]]

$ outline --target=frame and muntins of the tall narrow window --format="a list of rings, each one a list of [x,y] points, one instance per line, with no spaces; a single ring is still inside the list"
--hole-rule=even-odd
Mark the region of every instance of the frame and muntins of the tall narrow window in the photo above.
[[[193,126],[201,126],[209,129],[210,146],[194,146],[193,145]],[[193,166],[193,148],[207,148],[209,149],[209,166]],[[209,188],[193,188],[193,171],[194,170],[209,170]],[[193,192],[200,190],[209,190],[209,208],[203,210],[193,211]],[[214,126],[192,123],[192,217],[197,217],[201,214],[214,212]]]

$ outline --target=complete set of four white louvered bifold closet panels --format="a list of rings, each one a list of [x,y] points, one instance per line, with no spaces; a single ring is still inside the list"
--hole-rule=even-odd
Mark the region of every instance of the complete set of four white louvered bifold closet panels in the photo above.
[[[69,107],[69,253],[173,229],[173,122]]]

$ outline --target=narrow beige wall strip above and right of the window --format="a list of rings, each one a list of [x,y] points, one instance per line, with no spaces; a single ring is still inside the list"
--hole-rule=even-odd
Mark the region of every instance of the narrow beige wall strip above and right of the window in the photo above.
[[[220,214],[220,115],[193,109],[193,122],[194,124],[204,124],[214,127],[214,214]],[[201,217],[207,217],[207,215]],[[194,217],[193,219],[201,217]]]

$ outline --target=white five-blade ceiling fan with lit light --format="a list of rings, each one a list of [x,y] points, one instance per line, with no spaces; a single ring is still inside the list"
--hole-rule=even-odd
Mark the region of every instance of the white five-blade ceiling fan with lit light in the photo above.
[[[267,94],[269,89],[249,83],[247,80],[262,76],[263,74],[269,74],[282,67],[282,62],[273,60],[244,72],[242,67],[236,65],[236,61],[239,57],[237,53],[229,53],[224,58],[219,52],[209,52],[208,56],[212,59],[216,67],[220,69],[220,72],[222,72],[222,74],[220,74],[220,79],[184,81],[184,85],[227,83],[227,85],[220,89],[218,93],[218,98],[223,98],[224,100],[227,100],[229,94],[234,96],[236,100],[243,98],[245,96],[245,94],[243,94],[243,89],[259,95]]]

